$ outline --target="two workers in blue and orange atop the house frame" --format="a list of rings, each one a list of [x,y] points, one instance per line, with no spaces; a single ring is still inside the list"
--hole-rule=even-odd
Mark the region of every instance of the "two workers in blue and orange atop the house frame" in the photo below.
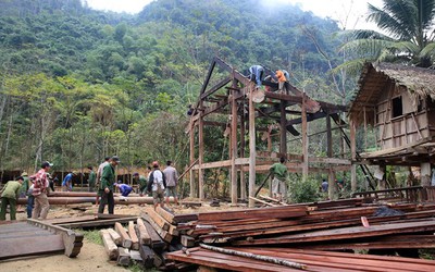
[[[276,70],[275,74],[270,74],[265,77],[265,70],[261,65],[252,65],[249,67],[249,76],[248,78],[257,84],[257,87],[260,88],[262,85],[262,81],[270,81],[274,83],[278,83],[278,91],[281,94],[289,94],[287,89],[286,83],[290,81],[290,74],[286,70]]]

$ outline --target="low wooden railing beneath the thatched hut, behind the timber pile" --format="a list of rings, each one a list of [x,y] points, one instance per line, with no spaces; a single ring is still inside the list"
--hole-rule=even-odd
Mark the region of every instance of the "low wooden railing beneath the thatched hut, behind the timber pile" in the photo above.
[[[359,191],[353,193],[352,197],[384,201],[435,202],[435,186]]]

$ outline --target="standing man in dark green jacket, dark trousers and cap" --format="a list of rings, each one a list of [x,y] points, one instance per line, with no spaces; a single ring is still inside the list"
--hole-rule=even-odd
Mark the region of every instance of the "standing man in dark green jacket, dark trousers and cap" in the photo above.
[[[120,158],[113,156],[108,165],[101,173],[100,189],[98,194],[101,196],[98,213],[104,213],[105,205],[108,205],[109,214],[113,214],[115,200],[113,198],[113,184],[116,182],[115,166],[120,163]]]

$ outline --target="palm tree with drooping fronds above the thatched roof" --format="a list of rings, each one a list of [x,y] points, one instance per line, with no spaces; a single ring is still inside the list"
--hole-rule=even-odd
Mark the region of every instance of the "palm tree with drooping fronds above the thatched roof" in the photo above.
[[[351,30],[352,40],[340,50],[356,58],[337,69],[356,72],[366,61],[432,67],[435,61],[435,0],[384,0],[382,9],[369,3],[368,22],[385,34]]]

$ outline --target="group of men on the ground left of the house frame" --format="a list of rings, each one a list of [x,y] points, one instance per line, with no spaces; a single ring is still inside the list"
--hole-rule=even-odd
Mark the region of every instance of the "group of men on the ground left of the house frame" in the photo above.
[[[120,158],[116,156],[104,158],[104,162],[98,168],[97,173],[89,166],[89,190],[94,191],[97,188],[97,202],[99,200],[98,212],[103,213],[105,206],[108,206],[109,213],[113,214],[114,210],[114,188],[117,187],[122,197],[126,197],[133,191],[133,187],[116,181],[115,168],[120,163]],[[149,174],[146,178],[139,173],[134,173],[134,182],[138,185],[140,196],[149,193],[153,198],[153,206],[157,208],[159,205],[164,207],[165,202],[170,203],[170,197],[173,196],[175,205],[178,205],[177,198],[177,183],[178,173],[172,165],[172,161],[166,162],[166,168],[160,170],[158,161],[152,163],[152,169],[149,168]],[[45,161],[41,163],[40,170],[28,176],[26,172],[23,172],[21,176],[14,181],[8,182],[0,194],[1,197],[1,210],[0,220],[5,220],[7,208],[10,209],[11,220],[16,220],[16,202],[20,197],[20,191],[25,190],[27,196],[27,218],[33,219],[47,219],[48,211],[50,209],[48,194],[54,190],[52,178],[49,174],[52,163]],[[73,177],[76,175],[75,172],[69,173],[62,182],[62,188],[64,191],[71,191],[73,189]],[[51,182],[50,182],[51,181]]]

